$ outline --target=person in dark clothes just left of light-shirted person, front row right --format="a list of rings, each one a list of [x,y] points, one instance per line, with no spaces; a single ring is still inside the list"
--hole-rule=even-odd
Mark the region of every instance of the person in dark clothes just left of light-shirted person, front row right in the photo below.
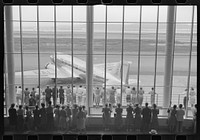
[[[176,108],[177,108],[177,106],[174,105],[173,109],[171,110],[171,113],[170,113],[170,118],[169,118],[169,131],[170,132],[175,132],[175,130],[176,130],[176,123],[177,123],[177,119],[176,119],[177,110],[176,110]]]

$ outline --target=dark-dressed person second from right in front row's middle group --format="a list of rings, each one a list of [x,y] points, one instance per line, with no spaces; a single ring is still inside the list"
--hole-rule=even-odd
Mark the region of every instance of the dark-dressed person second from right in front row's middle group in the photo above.
[[[145,108],[142,109],[142,131],[149,131],[149,125],[151,121],[151,109],[148,107],[148,103],[145,103]]]

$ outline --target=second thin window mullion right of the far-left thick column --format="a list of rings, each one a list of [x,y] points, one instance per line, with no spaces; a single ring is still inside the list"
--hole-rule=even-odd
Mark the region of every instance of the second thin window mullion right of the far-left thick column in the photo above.
[[[39,84],[39,97],[41,97],[40,94],[40,29],[39,29],[39,7],[37,6],[37,45],[38,45],[38,84]],[[39,100],[39,106],[40,106],[40,100]]]

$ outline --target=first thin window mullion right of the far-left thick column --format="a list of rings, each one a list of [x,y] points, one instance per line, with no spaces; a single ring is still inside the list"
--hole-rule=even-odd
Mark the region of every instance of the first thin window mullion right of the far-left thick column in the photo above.
[[[23,40],[22,40],[22,11],[19,6],[19,23],[20,23],[20,49],[21,49],[21,79],[22,79],[22,105],[24,104],[24,66],[23,66]]]

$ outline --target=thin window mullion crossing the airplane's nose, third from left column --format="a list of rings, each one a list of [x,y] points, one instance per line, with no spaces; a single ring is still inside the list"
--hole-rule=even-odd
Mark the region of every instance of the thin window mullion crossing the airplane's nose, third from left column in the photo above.
[[[56,104],[57,104],[57,44],[56,44],[56,6],[54,6],[54,45],[55,45],[55,92],[56,92]]]

